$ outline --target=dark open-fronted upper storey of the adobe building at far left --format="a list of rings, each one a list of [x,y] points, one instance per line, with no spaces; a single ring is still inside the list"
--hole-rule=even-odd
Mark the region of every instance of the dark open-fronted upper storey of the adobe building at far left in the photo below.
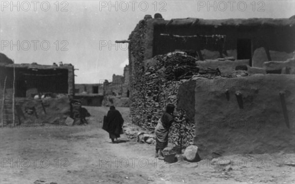
[[[34,97],[44,93],[68,94],[74,96],[74,66],[39,65],[37,63],[14,64],[6,62],[1,53],[0,81],[1,89],[6,78],[6,90],[13,87],[15,70],[15,97]],[[3,57],[3,60],[2,60]],[[9,61],[9,60],[8,60]]]

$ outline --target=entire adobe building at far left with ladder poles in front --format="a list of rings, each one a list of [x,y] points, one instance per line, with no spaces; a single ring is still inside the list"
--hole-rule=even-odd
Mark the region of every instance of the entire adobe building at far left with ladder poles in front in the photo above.
[[[71,64],[15,64],[0,53],[1,126],[32,123],[33,119],[53,123],[67,116],[74,118],[73,96],[74,66]]]

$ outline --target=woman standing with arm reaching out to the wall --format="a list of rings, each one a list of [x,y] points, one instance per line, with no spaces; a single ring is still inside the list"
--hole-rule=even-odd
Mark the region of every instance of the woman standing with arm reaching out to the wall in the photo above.
[[[175,106],[172,104],[168,104],[166,106],[166,112],[164,112],[161,118],[158,121],[158,124],[155,128],[156,134],[156,154],[155,158],[163,158],[163,149],[168,146],[168,134],[169,129],[173,122],[181,123],[185,121],[183,118],[182,120],[177,120],[176,117],[173,115]]]

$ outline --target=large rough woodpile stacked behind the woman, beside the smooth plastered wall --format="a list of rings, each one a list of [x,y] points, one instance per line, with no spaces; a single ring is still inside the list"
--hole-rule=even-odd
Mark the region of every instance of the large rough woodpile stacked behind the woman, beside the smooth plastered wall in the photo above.
[[[196,61],[195,57],[174,52],[156,55],[145,64],[136,65],[137,74],[131,98],[133,123],[154,130],[166,105],[177,106],[177,92],[183,81],[193,76],[206,78],[220,76],[218,69],[199,69]],[[179,115],[180,110],[177,109],[175,115]],[[194,127],[193,120],[173,124],[169,132],[169,141],[176,145],[192,145]]]

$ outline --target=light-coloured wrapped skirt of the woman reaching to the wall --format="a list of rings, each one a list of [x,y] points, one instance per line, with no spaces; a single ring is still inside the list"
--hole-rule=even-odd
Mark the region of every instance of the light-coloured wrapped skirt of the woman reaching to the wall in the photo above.
[[[156,150],[158,149],[164,149],[168,145],[168,134],[169,134],[169,129],[165,129],[162,122],[161,118],[158,121],[158,124],[155,128],[155,134],[156,134]]]

